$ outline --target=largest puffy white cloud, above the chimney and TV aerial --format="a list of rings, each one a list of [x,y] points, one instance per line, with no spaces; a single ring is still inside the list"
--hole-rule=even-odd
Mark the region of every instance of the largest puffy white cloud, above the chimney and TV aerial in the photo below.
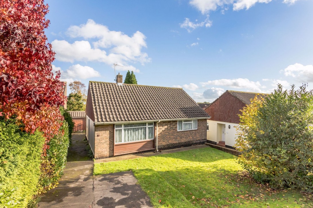
[[[148,54],[142,52],[142,49],[147,47],[146,36],[139,31],[128,36],[120,31],[110,31],[105,25],[89,19],[86,24],[70,26],[66,34],[73,38],[82,37],[85,40],[74,43],[54,40],[52,46],[58,61],[105,62],[111,66],[113,63],[118,63],[124,66],[121,70],[135,72],[139,70],[131,66],[131,63],[140,62],[144,65],[151,61]],[[91,42],[93,47],[88,39],[94,41]]]

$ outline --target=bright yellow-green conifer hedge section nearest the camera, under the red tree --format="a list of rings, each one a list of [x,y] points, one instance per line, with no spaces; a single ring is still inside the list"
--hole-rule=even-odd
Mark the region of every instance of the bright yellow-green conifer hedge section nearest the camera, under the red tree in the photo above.
[[[0,207],[25,207],[37,192],[43,144],[40,132],[0,120]]]

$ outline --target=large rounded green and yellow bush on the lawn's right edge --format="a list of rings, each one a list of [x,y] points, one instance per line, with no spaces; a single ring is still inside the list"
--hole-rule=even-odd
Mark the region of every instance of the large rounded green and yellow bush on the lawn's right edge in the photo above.
[[[239,115],[239,163],[273,188],[313,192],[313,93],[305,87],[279,85]]]

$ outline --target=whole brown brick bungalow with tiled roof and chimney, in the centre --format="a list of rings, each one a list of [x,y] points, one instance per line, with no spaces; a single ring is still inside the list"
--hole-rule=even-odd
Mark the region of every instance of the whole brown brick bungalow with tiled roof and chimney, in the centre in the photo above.
[[[89,82],[86,137],[95,158],[203,144],[209,115],[182,89]]]

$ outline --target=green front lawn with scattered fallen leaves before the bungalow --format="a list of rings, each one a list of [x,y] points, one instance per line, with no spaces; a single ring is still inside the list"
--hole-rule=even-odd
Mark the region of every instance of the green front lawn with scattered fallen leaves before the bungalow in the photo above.
[[[311,195],[243,177],[235,156],[211,147],[96,163],[94,173],[130,170],[155,207],[313,207]]]

